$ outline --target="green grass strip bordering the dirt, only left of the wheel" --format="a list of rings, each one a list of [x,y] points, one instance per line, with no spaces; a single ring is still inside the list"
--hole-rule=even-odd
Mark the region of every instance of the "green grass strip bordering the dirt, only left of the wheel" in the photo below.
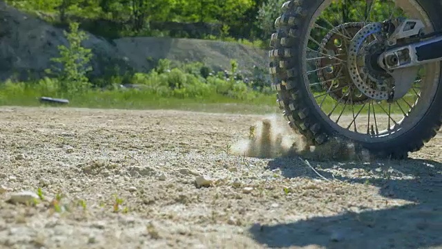
[[[41,104],[42,96],[66,98],[69,104]],[[128,89],[124,91],[89,91],[79,95],[43,93],[35,88],[6,89],[0,87],[0,106],[81,107],[97,109],[176,109],[215,113],[265,114],[278,111],[275,95],[258,94],[256,98],[239,100],[213,93],[204,98],[162,97],[148,91]]]

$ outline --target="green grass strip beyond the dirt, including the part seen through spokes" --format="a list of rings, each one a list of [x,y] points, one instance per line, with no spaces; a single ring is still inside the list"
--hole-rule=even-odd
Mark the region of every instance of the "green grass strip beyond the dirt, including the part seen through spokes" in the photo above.
[[[315,93],[320,95],[321,93]],[[17,87],[11,84],[0,87],[0,106],[25,106],[38,107],[48,106],[48,104],[41,104],[39,98],[42,96],[51,98],[67,98],[69,104],[61,104],[59,107],[82,107],[82,108],[97,108],[97,109],[176,109],[184,111],[206,111],[214,113],[247,113],[247,114],[266,114],[279,113],[278,104],[276,103],[276,96],[273,94],[265,95],[257,93],[255,97],[249,99],[230,98],[226,95],[213,93],[200,98],[177,98],[165,97],[151,93],[149,91],[141,91],[135,89],[126,90],[106,90],[106,91],[88,91],[86,93],[70,95],[67,93],[57,94],[52,91],[44,91],[37,86]],[[408,104],[414,102],[416,96],[406,95],[405,100]],[[322,102],[323,98],[317,98],[318,103]],[[401,107],[399,107],[399,105]],[[404,100],[398,100],[398,104],[391,105],[392,114],[402,114],[407,112],[409,106]],[[50,104],[52,105],[52,104]],[[325,98],[323,102],[323,111],[330,113],[336,105],[336,100],[330,97]],[[356,105],[354,107],[355,115],[363,105]],[[385,111],[383,111],[383,109]],[[369,104],[367,103],[361,111],[361,115],[367,115]],[[381,104],[370,105],[371,110],[374,108],[376,114],[385,115],[389,111],[389,104],[385,101]],[[402,110],[401,110],[402,108]],[[344,109],[344,110],[343,110]],[[346,115],[352,115],[353,110],[344,104],[338,104],[333,111],[333,115],[339,115],[343,111]]]

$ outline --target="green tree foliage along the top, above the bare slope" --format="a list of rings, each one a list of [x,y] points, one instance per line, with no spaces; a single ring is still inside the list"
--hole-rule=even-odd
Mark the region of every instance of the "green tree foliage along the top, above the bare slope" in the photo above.
[[[217,38],[266,40],[274,31],[274,21],[287,0],[6,0],[12,6],[55,16],[68,26],[78,21],[81,28],[104,37],[166,34],[153,32],[156,23],[217,24]],[[335,0],[322,17],[330,24],[362,21],[365,0]],[[369,2],[369,1],[368,1]],[[389,17],[391,0],[372,1],[372,15]],[[97,22],[101,21],[101,22]],[[103,22],[104,21],[104,22]],[[173,33],[175,34],[175,33]],[[182,32],[176,33],[183,35]],[[212,33],[207,33],[211,37]],[[193,35],[184,34],[184,37]],[[206,37],[206,38],[207,38]],[[267,42],[266,42],[267,44]]]

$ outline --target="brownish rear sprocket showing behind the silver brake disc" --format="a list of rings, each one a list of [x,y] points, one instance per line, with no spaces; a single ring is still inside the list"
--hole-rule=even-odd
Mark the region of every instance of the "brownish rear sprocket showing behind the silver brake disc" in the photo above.
[[[316,62],[316,68],[319,69],[317,75],[323,89],[329,92],[329,96],[336,101],[347,104],[350,102],[363,104],[369,101],[367,95],[358,91],[354,86],[352,75],[349,74],[347,66],[338,64],[339,62],[347,62],[349,44],[363,27],[363,22],[341,24],[330,30],[320,44],[322,55],[319,55],[321,59]],[[352,87],[352,91],[348,91],[349,87]]]

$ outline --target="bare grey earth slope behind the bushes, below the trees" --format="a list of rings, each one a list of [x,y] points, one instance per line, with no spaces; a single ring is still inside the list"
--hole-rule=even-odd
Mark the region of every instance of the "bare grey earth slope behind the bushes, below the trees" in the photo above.
[[[88,35],[84,46],[93,50],[93,73],[96,76],[115,66],[123,70],[148,71],[155,66],[155,60],[162,58],[205,62],[213,69],[229,68],[231,59],[236,59],[239,68],[245,71],[253,65],[267,65],[264,50],[240,44],[156,37],[108,41]],[[28,73],[41,76],[44,69],[50,68],[50,58],[59,55],[59,45],[67,45],[62,29],[0,1],[0,80],[12,75],[24,79]]]

